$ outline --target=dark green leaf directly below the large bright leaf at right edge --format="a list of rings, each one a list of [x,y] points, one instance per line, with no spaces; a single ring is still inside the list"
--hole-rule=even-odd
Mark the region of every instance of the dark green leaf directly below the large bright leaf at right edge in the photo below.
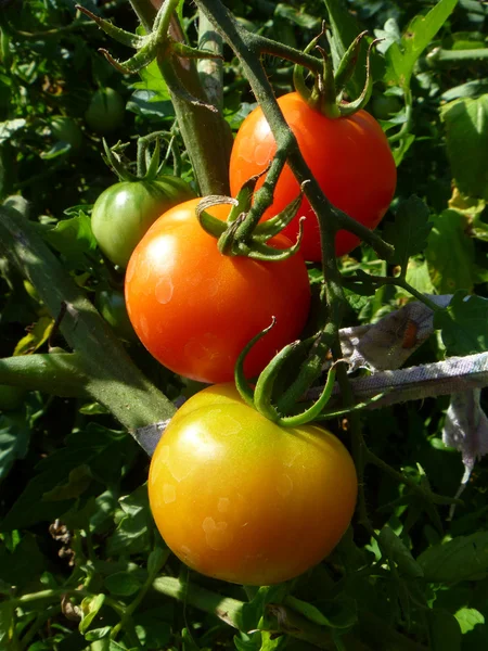
[[[465,232],[466,219],[457,210],[432,217],[425,257],[432,282],[439,294],[473,289],[474,243]]]

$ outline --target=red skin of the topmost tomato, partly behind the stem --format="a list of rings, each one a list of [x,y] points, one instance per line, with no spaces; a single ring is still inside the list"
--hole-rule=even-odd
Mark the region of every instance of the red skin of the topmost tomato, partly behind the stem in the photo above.
[[[281,97],[278,103],[328,199],[357,221],[374,229],[388,209],[397,181],[388,141],[374,117],[358,111],[350,117],[332,119],[308,106],[296,92]],[[248,178],[266,169],[275,149],[268,122],[257,107],[241,125],[232,148],[230,184],[233,196]],[[298,182],[285,166],[265,219],[282,210],[298,195]],[[306,260],[320,261],[319,226],[307,199],[304,197],[296,218],[283,232],[295,240],[298,218],[304,215],[307,220],[301,254]],[[335,241],[336,255],[349,253],[359,242],[352,233],[339,231]]]

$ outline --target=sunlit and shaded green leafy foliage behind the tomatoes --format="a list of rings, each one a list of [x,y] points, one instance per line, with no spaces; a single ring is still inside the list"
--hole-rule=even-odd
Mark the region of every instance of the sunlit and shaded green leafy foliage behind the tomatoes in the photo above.
[[[20,224],[24,219],[43,241],[90,307],[101,290],[119,294],[124,278],[101,255],[91,232],[91,206],[115,177],[103,163],[102,140],[87,124],[86,111],[99,88],[114,88],[126,112],[124,124],[107,141],[110,145],[123,141],[117,149],[120,161],[134,171],[136,139],[165,130],[163,171],[178,169],[196,190],[191,148],[185,148],[175,120],[174,89],[157,62],[132,77],[111,67],[99,49],[126,60],[126,47],[110,40],[72,2],[0,4],[0,202],[16,210]],[[136,29],[128,3],[82,4],[120,27]],[[203,4],[198,0],[178,7],[184,38],[193,46],[195,15]],[[335,65],[363,28],[383,39],[373,55],[375,84],[368,110],[377,112],[398,165],[397,196],[376,231],[391,245],[393,255],[383,259],[363,243],[339,260],[348,298],[343,326],[375,323],[411,301],[412,291],[416,299],[453,294],[449,304],[449,298],[444,303],[447,307],[437,306],[435,311],[438,337],[429,336],[416,347],[411,326],[393,335],[399,346],[414,346],[411,365],[418,367],[486,353],[486,3],[236,0],[226,4],[254,34],[300,50],[317,36],[322,18],[328,20],[322,44],[328,41]],[[142,33],[141,27],[138,30]],[[349,100],[363,86],[365,49],[364,43],[347,86]],[[277,95],[292,89],[292,62],[266,54],[262,64]],[[228,46],[218,65],[227,129],[235,131],[256,97]],[[380,115],[381,103],[375,100],[385,98],[394,101],[386,115]],[[205,123],[207,108],[201,110]],[[14,200],[8,200],[12,194]],[[23,237],[18,227],[16,246]],[[78,366],[70,367],[79,373],[69,378],[69,387],[76,386],[77,393],[68,395],[76,393],[75,397],[60,397],[65,395],[61,386],[60,395],[48,392],[56,381],[67,382],[62,375],[34,383],[46,358],[54,358],[50,350],[57,358],[69,350],[66,320],[74,333],[70,341],[76,341],[87,315],[73,312],[67,305],[60,326],[61,306],[50,311],[36,285],[46,258],[27,252],[34,269],[30,282],[1,240],[1,357],[26,363],[17,374],[13,366],[0,367],[0,649],[478,651],[487,647],[487,461],[475,465],[462,502],[452,512],[463,465],[461,456],[441,439],[447,398],[360,412],[368,444],[361,448],[367,461],[360,469],[363,510],[331,557],[306,576],[245,589],[196,575],[160,539],[147,503],[147,457],[105,406],[106,393],[87,394],[86,366],[77,358]],[[319,294],[322,271],[310,266],[309,275]],[[317,307],[307,336],[321,320]],[[119,340],[113,330],[115,322],[110,326],[94,317],[86,328],[94,358],[104,360],[106,342]],[[200,388],[160,368],[133,341],[117,349],[120,363],[131,360],[141,376],[169,399]],[[23,375],[26,368],[33,373],[28,379]],[[104,369],[102,362],[99,369]],[[97,381],[102,386],[103,379]],[[104,388],[124,397],[125,392],[137,391],[136,385],[136,380],[127,383],[118,378],[112,385],[106,380]],[[3,392],[5,387],[18,391]],[[142,391],[139,396],[141,403],[151,399]],[[483,393],[480,405],[486,408]],[[119,418],[127,412],[129,419],[137,407],[126,403]],[[343,416],[328,421],[349,447],[354,447],[352,421]]]

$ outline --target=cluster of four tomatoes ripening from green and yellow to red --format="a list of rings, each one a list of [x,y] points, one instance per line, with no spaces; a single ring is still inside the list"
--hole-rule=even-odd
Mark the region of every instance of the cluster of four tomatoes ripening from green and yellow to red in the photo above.
[[[374,118],[359,111],[331,119],[297,93],[279,104],[328,197],[374,228],[396,183],[393,156]],[[265,170],[274,152],[274,139],[257,108],[234,142],[231,191],[235,194]],[[92,216],[106,255],[111,257],[113,246],[119,255],[112,256],[116,264],[128,260],[126,304],[141,342],[174,372],[211,384],[178,410],[155,450],[149,478],[152,512],[168,546],[189,566],[248,585],[286,580],[321,561],[341,539],[356,503],[355,467],[335,436],[311,424],[285,429],[267,420],[243,401],[232,380],[240,353],[272,317],[275,326],[245,359],[246,376],[256,376],[278,350],[299,337],[310,303],[305,260],[320,260],[317,218],[304,199],[296,219],[268,242],[290,247],[305,215],[301,253],[287,259],[228,257],[196,219],[200,200],[181,203],[184,191],[177,188],[171,194],[160,187],[165,182],[141,186],[145,207],[129,209],[127,232],[120,228],[104,238],[110,229],[98,208],[110,216],[117,210],[116,201],[110,209],[95,205]],[[162,192],[167,193],[163,209]],[[298,183],[285,167],[264,218],[297,194]],[[154,221],[155,204],[164,214]],[[224,220],[229,207],[208,212]],[[139,230],[131,228],[134,222]],[[130,240],[128,233],[134,231]],[[339,231],[336,253],[357,244],[355,235]]]

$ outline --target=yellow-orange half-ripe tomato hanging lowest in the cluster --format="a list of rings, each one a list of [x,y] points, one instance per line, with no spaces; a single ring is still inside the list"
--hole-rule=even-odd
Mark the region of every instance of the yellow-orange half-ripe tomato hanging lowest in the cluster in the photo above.
[[[306,572],[339,541],[357,476],[330,432],[281,427],[223,384],[179,409],[156,447],[147,487],[163,538],[190,567],[271,585]]]

